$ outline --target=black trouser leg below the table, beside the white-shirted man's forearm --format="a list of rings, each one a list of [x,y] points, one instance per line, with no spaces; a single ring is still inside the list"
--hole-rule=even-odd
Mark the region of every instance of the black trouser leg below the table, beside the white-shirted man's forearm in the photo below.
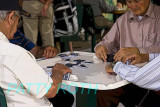
[[[74,96],[66,90],[59,89],[54,98],[49,98],[54,107],[72,107]]]

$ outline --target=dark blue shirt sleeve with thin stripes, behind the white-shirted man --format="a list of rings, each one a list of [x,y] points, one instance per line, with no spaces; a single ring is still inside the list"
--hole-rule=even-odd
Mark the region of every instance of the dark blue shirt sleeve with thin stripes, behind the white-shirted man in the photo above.
[[[26,38],[20,30],[17,30],[17,32],[14,34],[13,39],[10,40],[10,43],[19,45],[28,51],[36,46],[32,41]]]

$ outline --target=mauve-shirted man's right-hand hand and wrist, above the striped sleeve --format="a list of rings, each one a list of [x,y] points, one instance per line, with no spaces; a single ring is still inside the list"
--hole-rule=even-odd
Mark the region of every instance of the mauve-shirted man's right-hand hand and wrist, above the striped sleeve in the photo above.
[[[130,54],[138,54],[139,50],[136,47],[121,48],[114,56],[115,61],[124,61]]]

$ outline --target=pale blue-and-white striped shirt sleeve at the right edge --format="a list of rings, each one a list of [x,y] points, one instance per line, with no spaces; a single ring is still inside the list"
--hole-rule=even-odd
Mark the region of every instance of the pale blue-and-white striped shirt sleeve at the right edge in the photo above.
[[[158,54],[152,55],[156,57]],[[142,68],[117,62],[113,71],[123,79],[142,88],[160,91],[160,55]]]

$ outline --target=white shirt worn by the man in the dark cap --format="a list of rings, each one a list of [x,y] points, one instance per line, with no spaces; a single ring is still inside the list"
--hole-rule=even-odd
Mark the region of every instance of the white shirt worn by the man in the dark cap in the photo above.
[[[44,97],[52,83],[30,52],[0,32],[0,87],[8,107],[53,107]]]

